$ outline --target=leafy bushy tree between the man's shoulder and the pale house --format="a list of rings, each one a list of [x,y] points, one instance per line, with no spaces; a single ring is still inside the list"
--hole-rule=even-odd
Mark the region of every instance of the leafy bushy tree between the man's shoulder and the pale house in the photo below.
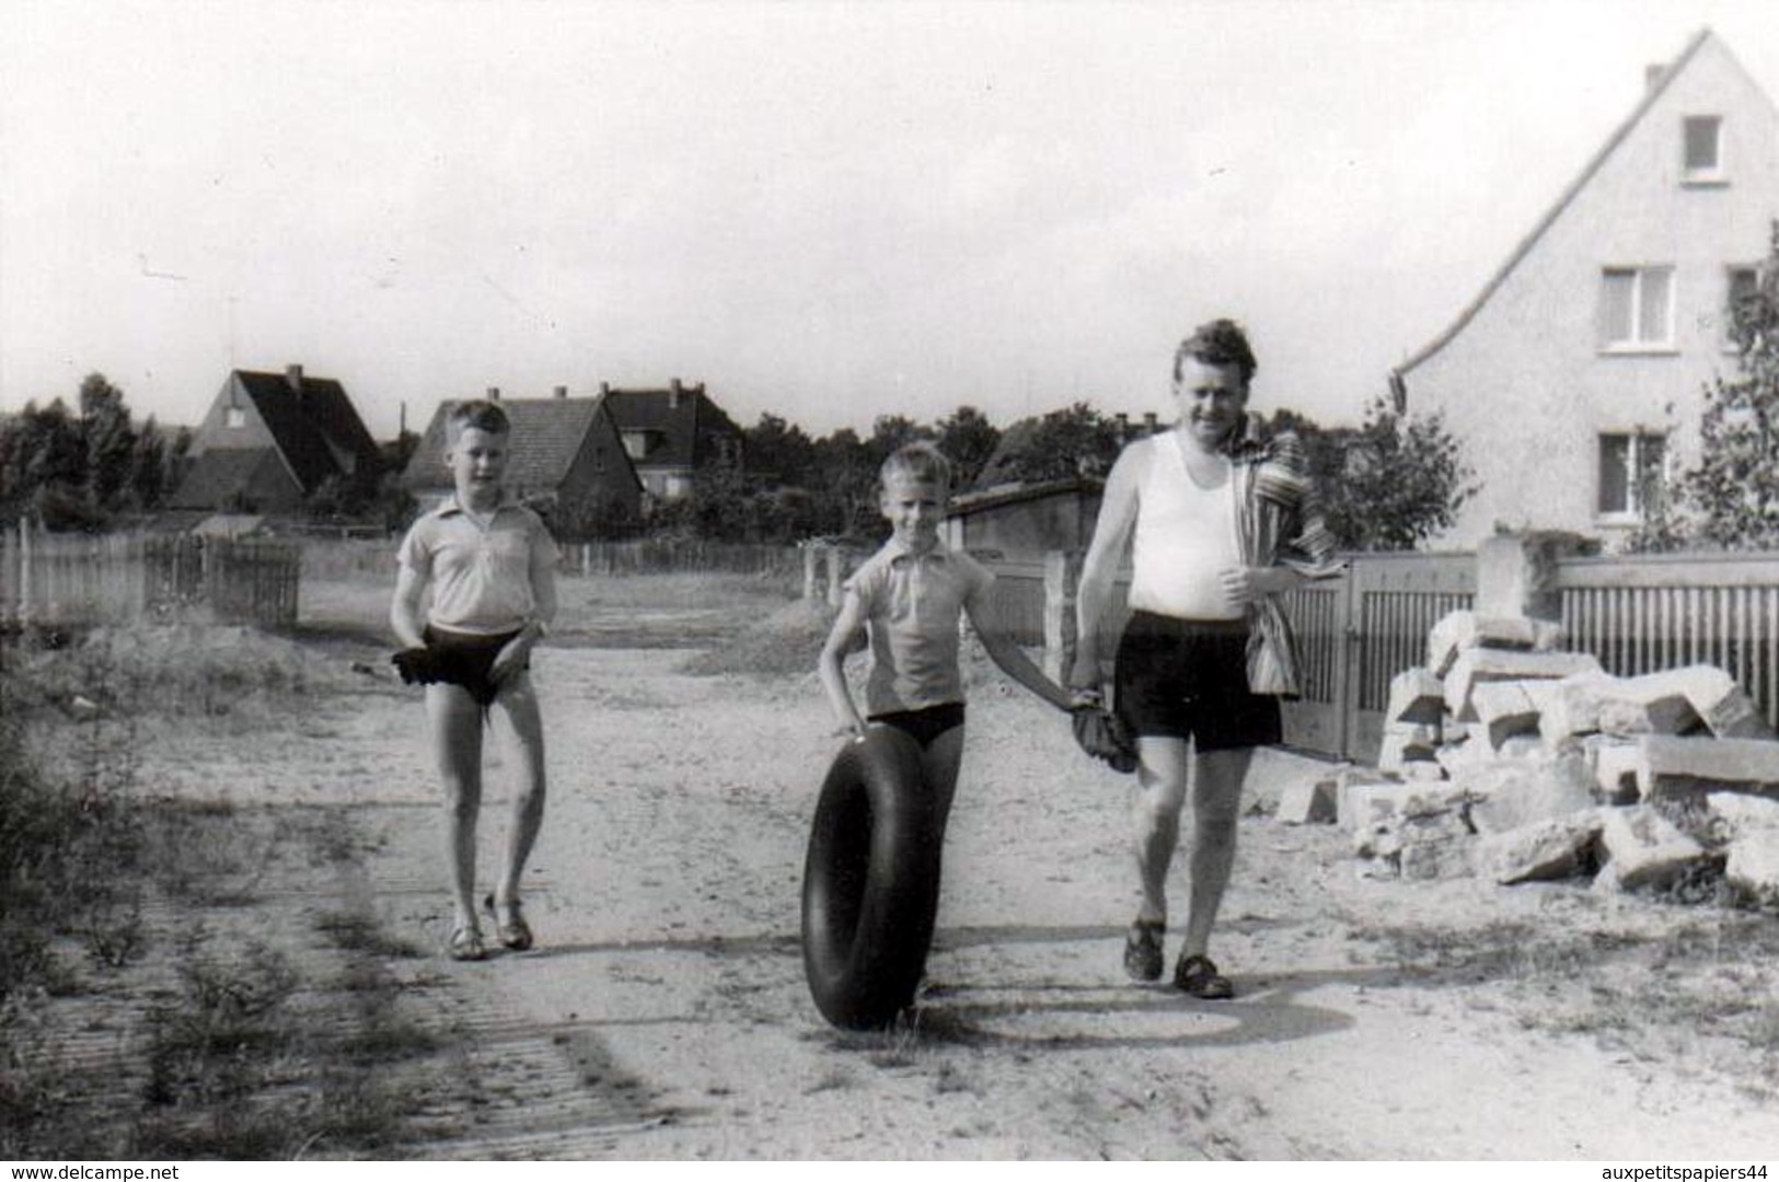
[[[1267,430],[1302,439],[1324,519],[1341,549],[1414,549],[1448,530],[1478,489],[1437,412],[1398,414],[1377,398],[1359,427],[1324,428],[1279,411]]]

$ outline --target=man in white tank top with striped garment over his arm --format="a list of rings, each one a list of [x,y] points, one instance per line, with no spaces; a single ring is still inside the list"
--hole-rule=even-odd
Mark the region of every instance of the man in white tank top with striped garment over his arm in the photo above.
[[[1131,617],[1114,709],[1137,738],[1142,901],[1124,969],[1137,981],[1162,976],[1167,871],[1190,795],[1190,901],[1174,985],[1204,999],[1235,995],[1208,946],[1235,862],[1242,782],[1254,748],[1279,741],[1279,697],[1299,693],[1277,597],[1338,572],[1295,437],[1261,446],[1249,432],[1254,370],[1231,320],[1201,325],[1176,350],[1176,425],[1126,446],[1107,478],[1069,674],[1080,702],[1099,699],[1101,617],[1130,542]]]

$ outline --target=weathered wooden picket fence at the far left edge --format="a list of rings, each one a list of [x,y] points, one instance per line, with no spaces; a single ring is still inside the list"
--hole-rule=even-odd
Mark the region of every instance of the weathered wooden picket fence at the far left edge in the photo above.
[[[0,535],[0,626],[89,626],[183,619],[288,627],[297,622],[299,547],[190,533]]]

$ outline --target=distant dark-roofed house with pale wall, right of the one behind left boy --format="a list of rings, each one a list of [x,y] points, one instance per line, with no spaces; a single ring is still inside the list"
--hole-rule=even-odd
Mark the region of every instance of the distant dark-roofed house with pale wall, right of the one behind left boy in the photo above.
[[[610,402],[644,491],[656,501],[690,496],[712,467],[742,462],[742,428],[710,400],[703,382],[672,379],[665,389],[600,382],[600,393]]]

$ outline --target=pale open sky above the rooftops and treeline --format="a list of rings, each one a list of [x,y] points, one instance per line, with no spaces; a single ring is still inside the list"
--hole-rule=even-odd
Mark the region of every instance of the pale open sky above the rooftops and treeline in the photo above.
[[[1350,423],[1703,27],[1779,96],[1770,0],[9,0],[0,411],[1165,414],[1228,315]]]

